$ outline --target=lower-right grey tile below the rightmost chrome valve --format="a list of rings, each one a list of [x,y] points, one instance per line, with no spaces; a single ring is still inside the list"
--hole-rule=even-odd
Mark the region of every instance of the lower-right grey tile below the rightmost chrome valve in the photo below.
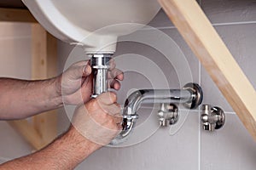
[[[253,138],[235,114],[227,114],[226,120],[217,132],[201,132],[201,169],[254,170]]]

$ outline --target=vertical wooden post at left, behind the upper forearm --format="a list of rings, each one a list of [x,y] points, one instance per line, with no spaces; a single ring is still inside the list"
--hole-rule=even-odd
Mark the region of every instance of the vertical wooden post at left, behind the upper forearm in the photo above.
[[[57,41],[39,24],[32,24],[32,79],[56,76]],[[44,144],[49,144],[57,135],[57,112],[48,111],[34,116],[33,125]]]

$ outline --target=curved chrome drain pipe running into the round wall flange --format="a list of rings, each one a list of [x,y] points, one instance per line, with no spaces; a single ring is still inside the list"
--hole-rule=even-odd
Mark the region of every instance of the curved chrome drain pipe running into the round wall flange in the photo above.
[[[110,144],[119,144],[127,139],[137,121],[137,111],[142,104],[180,103],[189,109],[201,105],[201,87],[195,83],[186,84],[183,89],[143,89],[132,93],[125,100],[123,130]]]

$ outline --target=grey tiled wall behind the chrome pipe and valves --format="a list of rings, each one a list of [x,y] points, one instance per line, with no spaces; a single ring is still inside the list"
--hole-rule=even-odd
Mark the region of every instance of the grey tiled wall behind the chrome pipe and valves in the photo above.
[[[201,0],[199,3],[256,88],[256,2]],[[204,91],[203,103],[224,109],[224,127],[213,133],[205,132],[201,130],[200,109],[182,109],[176,125],[159,128],[158,105],[154,105],[154,109],[144,105],[138,111],[140,119],[136,130],[125,143],[128,146],[97,150],[77,169],[255,169],[256,143],[175,26],[163,11],[149,26],[158,30],[145,28],[119,38],[115,60],[119,69],[125,72],[125,80],[118,93],[119,103],[124,104],[125,97],[135,89],[181,88],[184,82],[197,82]],[[86,58],[79,49],[69,54],[72,49],[68,44],[59,42],[60,71],[67,57],[67,60]],[[60,114],[60,120],[63,122],[59,126],[61,131],[67,127],[68,120],[63,114]]]

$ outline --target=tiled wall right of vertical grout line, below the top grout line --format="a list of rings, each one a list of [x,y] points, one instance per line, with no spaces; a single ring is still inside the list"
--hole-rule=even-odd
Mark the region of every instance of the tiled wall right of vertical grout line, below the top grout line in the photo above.
[[[252,82],[253,88],[256,88],[256,49],[253,48],[256,42],[256,24],[216,26],[216,29]],[[256,164],[252,159],[256,155],[255,141],[204,69],[201,70],[201,85],[206,94],[206,103],[219,105],[229,112],[223,129],[212,134],[201,132],[201,169],[255,169]]]

